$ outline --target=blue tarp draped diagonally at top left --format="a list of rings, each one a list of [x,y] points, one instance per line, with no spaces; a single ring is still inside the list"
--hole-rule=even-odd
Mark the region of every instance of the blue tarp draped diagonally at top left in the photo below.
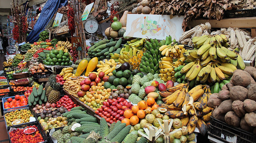
[[[39,34],[44,31],[45,26],[52,19],[58,8],[68,4],[68,0],[48,0],[43,7],[37,23],[33,30],[27,36],[27,42],[34,43],[38,41]]]

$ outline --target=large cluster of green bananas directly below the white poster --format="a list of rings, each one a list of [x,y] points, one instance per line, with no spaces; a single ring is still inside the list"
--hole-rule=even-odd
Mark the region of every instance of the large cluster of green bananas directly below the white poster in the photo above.
[[[149,42],[150,41],[150,42]],[[161,60],[161,54],[159,54],[159,45],[156,39],[150,39],[146,41],[145,53],[141,58],[140,71],[144,73],[159,73],[159,61]]]

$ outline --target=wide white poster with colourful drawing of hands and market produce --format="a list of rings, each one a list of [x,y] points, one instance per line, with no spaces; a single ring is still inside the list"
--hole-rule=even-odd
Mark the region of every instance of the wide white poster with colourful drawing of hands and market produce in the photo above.
[[[156,38],[163,40],[171,35],[172,39],[179,38],[183,33],[181,28],[184,16],[128,14],[126,36],[138,38]]]

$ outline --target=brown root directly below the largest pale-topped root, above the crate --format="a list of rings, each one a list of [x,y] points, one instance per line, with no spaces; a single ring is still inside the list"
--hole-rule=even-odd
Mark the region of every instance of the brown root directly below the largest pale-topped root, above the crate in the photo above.
[[[238,86],[230,87],[229,91],[230,91],[229,97],[233,101],[235,100],[244,101],[245,99],[247,99],[248,90],[243,86],[238,85]]]

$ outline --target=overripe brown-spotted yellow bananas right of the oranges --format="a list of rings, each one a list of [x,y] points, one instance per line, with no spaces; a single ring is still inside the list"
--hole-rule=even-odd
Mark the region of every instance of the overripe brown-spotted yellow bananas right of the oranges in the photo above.
[[[183,126],[187,126],[189,134],[193,133],[196,127],[201,134],[206,134],[205,122],[209,123],[212,111],[212,108],[207,106],[211,95],[209,86],[198,85],[188,92],[187,84],[178,84],[159,94],[167,95],[162,99],[165,103],[159,105],[168,110],[166,115],[182,118],[181,122]]]

